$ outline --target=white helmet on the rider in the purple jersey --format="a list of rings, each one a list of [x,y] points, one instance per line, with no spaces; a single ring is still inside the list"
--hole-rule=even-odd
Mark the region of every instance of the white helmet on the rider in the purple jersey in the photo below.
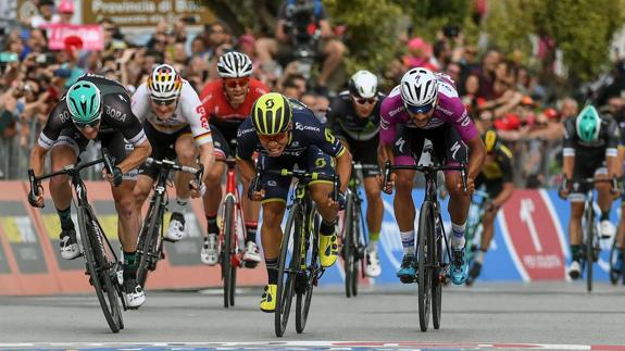
[[[400,83],[401,99],[407,109],[433,106],[438,97],[436,75],[426,68],[412,68],[408,71]],[[427,109],[429,111],[429,109]],[[427,111],[412,111],[425,113]]]

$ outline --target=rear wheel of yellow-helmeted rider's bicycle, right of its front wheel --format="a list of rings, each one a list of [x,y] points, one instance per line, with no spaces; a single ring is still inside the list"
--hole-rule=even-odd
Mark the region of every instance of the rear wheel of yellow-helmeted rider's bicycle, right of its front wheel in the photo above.
[[[308,236],[305,247],[305,256],[302,262],[305,262],[307,271],[303,274],[298,274],[298,279],[303,279],[296,281],[300,284],[299,289],[296,288],[297,299],[296,299],[296,330],[301,334],[307,325],[308,316],[310,312],[310,305],[312,301],[313,289],[315,286],[315,279],[317,277],[317,272],[320,272],[318,264],[318,226],[321,224],[321,215],[316,212],[316,205],[312,206],[311,210],[311,221],[308,224],[305,236]],[[310,255],[308,254],[310,248]],[[308,258],[308,259],[307,259]]]

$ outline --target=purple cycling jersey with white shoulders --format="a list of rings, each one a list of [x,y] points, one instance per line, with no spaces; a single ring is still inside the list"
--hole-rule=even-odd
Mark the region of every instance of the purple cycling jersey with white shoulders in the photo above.
[[[466,143],[477,135],[477,129],[468,112],[458,96],[453,83],[445,76],[438,76],[438,103],[434,114],[427,125],[417,127],[411,120],[403,106],[403,100],[399,91],[399,86],[395,87],[380,108],[380,131],[379,141],[382,145],[393,145],[397,138],[397,124],[403,124],[409,128],[432,129],[446,123],[453,125],[462,141]]]

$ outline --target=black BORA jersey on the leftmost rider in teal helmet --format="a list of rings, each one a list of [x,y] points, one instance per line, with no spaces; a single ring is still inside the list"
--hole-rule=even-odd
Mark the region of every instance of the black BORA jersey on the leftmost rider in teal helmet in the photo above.
[[[120,83],[93,74],[86,74],[78,80],[91,82],[102,92],[103,110],[99,135],[120,131],[128,142],[135,146],[147,140],[141,123],[130,109],[130,97]],[[64,96],[52,110],[39,135],[38,143],[43,149],[50,149],[63,129],[78,131],[72,122],[65,98]]]

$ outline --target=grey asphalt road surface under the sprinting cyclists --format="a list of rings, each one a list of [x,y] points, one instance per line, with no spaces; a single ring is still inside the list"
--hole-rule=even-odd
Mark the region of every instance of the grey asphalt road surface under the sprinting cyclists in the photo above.
[[[277,347],[267,343],[275,341],[293,341],[287,343],[292,347],[376,341],[349,346],[408,348],[625,344],[625,286],[598,284],[592,293],[583,283],[450,287],[443,290],[441,328],[430,324],[426,333],[418,329],[415,288],[376,286],[352,299],[340,287],[320,288],[304,333],[295,331],[293,310],[279,339],[274,315],[259,310],[260,289],[238,291],[236,306],[228,310],[221,290],[148,291],[139,311],[124,313],[126,329],[118,335],[110,333],[95,296],[0,297],[0,348]]]

